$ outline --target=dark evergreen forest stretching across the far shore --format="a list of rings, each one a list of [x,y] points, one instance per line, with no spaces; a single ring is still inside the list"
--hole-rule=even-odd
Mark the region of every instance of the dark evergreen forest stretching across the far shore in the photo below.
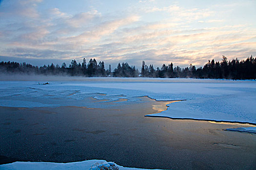
[[[161,68],[155,69],[153,64],[147,66],[144,61],[140,71],[135,66],[129,66],[128,63],[118,63],[117,68],[111,70],[105,68],[104,62],[97,63],[95,59],[90,59],[88,64],[83,58],[82,64],[72,60],[67,67],[63,63],[61,67],[57,64],[44,65],[42,67],[32,66],[27,63],[17,62],[0,62],[1,73],[21,73],[21,74],[42,74],[42,75],[70,75],[70,76],[87,76],[87,77],[158,77],[158,78],[200,78],[200,79],[256,79],[256,58],[251,56],[246,60],[239,61],[233,59],[228,61],[227,57],[222,56],[221,62],[214,60],[208,61],[203,67],[196,68],[192,64],[186,68],[175,67],[173,63],[163,64]]]

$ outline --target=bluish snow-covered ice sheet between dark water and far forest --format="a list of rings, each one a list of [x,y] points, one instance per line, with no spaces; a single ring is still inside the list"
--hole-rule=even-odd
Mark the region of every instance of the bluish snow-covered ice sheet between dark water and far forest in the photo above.
[[[69,82],[1,81],[0,105],[12,107],[87,106],[85,97],[105,102],[138,96],[157,101],[185,100],[168,104],[166,111],[150,116],[176,119],[204,119],[256,124],[256,81],[87,78]],[[106,95],[102,95],[106,94]]]

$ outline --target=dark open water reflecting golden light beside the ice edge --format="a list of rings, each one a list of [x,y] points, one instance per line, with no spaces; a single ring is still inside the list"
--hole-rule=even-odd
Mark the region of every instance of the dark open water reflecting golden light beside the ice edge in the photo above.
[[[108,109],[0,107],[0,163],[104,159],[149,169],[255,169],[255,134],[223,131],[236,124],[144,117],[156,112],[157,103],[141,98],[98,103]]]

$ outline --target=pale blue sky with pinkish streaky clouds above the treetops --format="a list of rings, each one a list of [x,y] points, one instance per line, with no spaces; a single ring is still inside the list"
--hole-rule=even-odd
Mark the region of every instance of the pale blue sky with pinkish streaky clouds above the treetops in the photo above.
[[[61,66],[85,57],[112,68],[241,60],[256,56],[255,9],[256,0],[0,0],[0,60]]]

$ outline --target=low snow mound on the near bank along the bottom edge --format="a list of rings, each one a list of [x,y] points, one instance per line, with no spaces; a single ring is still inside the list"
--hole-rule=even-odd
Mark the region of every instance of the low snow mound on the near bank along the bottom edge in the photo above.
[[[71,163],[14,162],[0,165],[1,170],[146,170],[126,168],[105,160],[87,160]]]

